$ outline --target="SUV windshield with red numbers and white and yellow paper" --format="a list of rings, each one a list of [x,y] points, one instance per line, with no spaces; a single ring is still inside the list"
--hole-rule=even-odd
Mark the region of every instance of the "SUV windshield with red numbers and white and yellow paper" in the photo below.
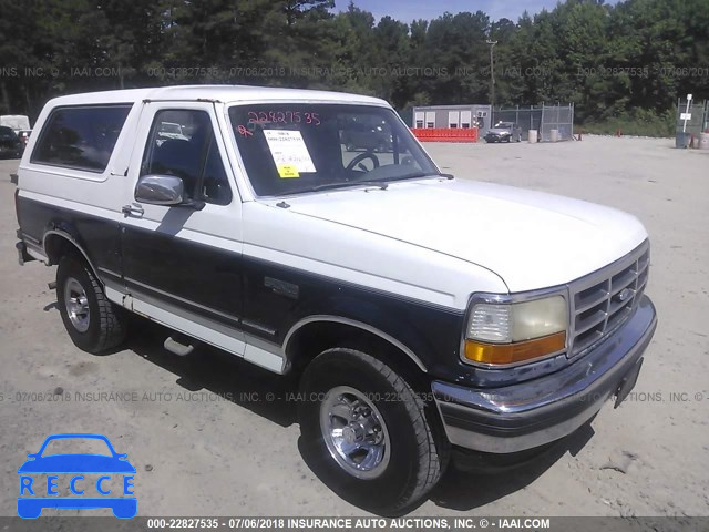
[[[229,117],[259,196],[439,175],[409,129],[387,108],[236,105]]]

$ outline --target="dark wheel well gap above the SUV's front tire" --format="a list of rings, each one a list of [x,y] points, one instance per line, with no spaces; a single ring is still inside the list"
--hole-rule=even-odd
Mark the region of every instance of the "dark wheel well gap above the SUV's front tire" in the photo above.
[[[338,321],[314,321],[300,327],[286,346],[291,371],[299,377],[318,355],[333,347],[358,349],[395,369],[417,389],[428,389],[424,370],[409,354],[374,332]]]

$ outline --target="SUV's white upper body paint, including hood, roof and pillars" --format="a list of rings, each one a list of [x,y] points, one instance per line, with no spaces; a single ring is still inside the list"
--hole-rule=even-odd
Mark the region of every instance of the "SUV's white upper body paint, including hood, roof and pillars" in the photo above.
[[[130,203],[135,186],[129,183],[134,173],[129,166],[140,160],[136,151],[144,146],[136,137],[143,123],[141,103],[146,101],[174,102],[176,109],[181,102],[209,102],[222,130],[235,202],[209,206],[218,211],[219,227],[201,226],[199,216],[194,216],[194,227],[176,231],[181,238],[463,310],[476,291],[517,293],[566,284],[617,260],[647,237],[635,217],[616,209],[460,180],[423,178],[389,183],[387,190],[352,187],[259,198],[234,142],[230,105],[317,102],[389,108],[370,96],[291,89],[167,86],[54,99],[44,106],[35,131],[56,106],[136,105],[102,174],[31,163],[40,136],[32,135],[20,165],[20,194],[125,222],[121,207]],[[284,200],[289,208],[277,206]],[[229,219],[235,231],[225,237]]]

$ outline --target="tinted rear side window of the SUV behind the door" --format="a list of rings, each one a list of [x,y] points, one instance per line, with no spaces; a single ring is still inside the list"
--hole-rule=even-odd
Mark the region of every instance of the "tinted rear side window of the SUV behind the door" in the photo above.
[[[131,104],[58,108],[32,152],[32,163],[103,172]]]

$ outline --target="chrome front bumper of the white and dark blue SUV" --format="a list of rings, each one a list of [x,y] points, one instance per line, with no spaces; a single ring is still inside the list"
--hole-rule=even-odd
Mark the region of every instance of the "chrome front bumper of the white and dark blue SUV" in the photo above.
[[[620,329],[555,374],[484,390],[433,381],[449,440],[466,449],[508,453],[571,434],[618,392],[626,377],[636,377],[656,326],[655,306],[643,296]]]

